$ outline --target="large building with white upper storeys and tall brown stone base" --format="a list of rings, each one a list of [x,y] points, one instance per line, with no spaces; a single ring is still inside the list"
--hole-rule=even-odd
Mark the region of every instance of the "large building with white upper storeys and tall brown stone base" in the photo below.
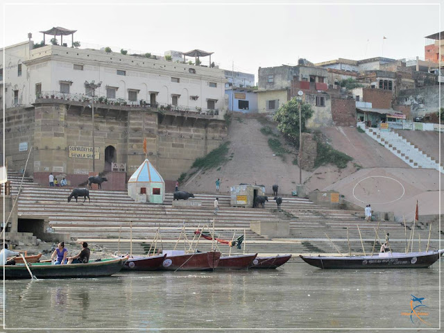
[[[3,52],[3,51],[2,51]],[[167,190],[197,157],[227,135],[225,72],[145,56],[22,42],[4,49],[5,151],[8,167],[47,183],[50,172],[80,185],[108,172],[104,188],[126,189],[126,179],[148,157]],[[0,53],[3,59],[3,53]],[[96,83],[94,128],[92,92]]]

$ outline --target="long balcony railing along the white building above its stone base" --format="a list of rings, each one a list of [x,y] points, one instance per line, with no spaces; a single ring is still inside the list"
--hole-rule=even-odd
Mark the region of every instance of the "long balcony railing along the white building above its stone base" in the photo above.
[[[92,102],[93,97],[85,94],[71,94],[65,92],[45,91],[37,94],[35,101],[39,99],[60,99],[62,101],[74,101],[81,103]],[[210,116],[219,115],[219,109],[206,109],[198,107],[190,107],[185,105],[172,105],[167,103],[150,103],[144,99],[139,101],[130,101],[128,99],[108,99],[105,96],[94,96],[94,104],[99,108],[101,105],[119,105],[133,108],[155,108],[161,112],[179,112],[190,114],[203,114]]]

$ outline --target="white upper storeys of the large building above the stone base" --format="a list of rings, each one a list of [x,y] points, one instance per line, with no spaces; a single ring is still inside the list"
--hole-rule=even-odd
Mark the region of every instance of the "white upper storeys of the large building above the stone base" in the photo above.
[[[30,105],[38,94],[81,100],[91,94],[85,80],[101,81],[96,96],[115,103],[177,105],[219,115],[227,108],[222,69],[58,45],[33,49],[31,40],[4,52],[0,87],[6,83],[6,108]]]

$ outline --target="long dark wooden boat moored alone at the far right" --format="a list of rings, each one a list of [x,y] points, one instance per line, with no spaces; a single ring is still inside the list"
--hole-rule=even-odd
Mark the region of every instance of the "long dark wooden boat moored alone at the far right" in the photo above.
[[[328,256],[305,256],[300,255],[302,260],[323,269],[344,268],[427,268],[434,264],[444,250],[434,250],[416,253],[378,253],[378,255],[328,257]]]

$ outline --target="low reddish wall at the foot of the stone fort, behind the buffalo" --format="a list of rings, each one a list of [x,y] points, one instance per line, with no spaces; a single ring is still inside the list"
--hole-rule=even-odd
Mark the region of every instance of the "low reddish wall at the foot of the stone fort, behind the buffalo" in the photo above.
[[[50,172],[35,172],[34,182],[40,185],[49,187],[49,173]],[[78,175],[74,173],[60,173],[53,172],[53,176],[57,178],[59,184],[63,177],[68,182],[68,187],[79,187],[80,184],[88,180],[88,175]],[[114,191],[126,191],[126,173],[125,172],[109,172],[105,175],[108,181],[102,183],[102,189],[109,189]],[[87,187],[87,185],[82,185]]]

